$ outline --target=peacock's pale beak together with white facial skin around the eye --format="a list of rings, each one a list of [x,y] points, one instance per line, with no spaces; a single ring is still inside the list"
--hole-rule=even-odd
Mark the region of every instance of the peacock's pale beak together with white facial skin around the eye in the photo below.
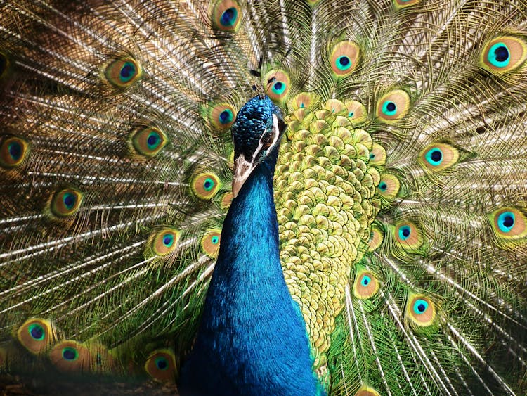
[[[280,137],[282,137],[282,132],[284,130],[284,122],[278,120],[278,117],[273,114],[273,129],[271,130],[271,133],[268,133],[267,129],[263,131],[260,136],[258,147],[256,147],[256,150],[252,153],[252,158],[247,159],[243,153],[240,153],[240,155],[234,159],[233,198],[238,196],[240,189],[242,189],[243,184],[247,181],[252,171],[255,170],[260,162],[265,160],[268,153],[280,143]]]

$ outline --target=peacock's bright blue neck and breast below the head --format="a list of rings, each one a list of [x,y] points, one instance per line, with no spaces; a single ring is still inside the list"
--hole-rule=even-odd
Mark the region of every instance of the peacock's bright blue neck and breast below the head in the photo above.
[[[318,393],[306,325],[280,266],[275,157],[245,181],[223,223],[182,395]]]

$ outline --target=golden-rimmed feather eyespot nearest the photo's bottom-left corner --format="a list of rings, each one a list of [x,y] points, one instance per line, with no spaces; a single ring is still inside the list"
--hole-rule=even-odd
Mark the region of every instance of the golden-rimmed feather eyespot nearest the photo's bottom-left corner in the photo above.
[[[56,340],[56,329],[47,319],[27,319],[17,330],[20,344],[34,355],[44,352]]]

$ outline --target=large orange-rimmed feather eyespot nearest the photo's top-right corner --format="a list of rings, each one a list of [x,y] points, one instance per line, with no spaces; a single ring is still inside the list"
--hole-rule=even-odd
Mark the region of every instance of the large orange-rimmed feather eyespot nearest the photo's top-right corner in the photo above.
[[[502,75],[518,68],[527,58],[527,44],[514,36],[490,40],[481,53],[482,67],[495,75]]]

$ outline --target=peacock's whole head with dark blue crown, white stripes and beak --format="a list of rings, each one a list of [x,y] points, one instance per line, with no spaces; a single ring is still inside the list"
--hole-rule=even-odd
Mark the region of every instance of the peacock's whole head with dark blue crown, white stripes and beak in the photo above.
[[[278,158],[287,124],[268,96],[256,96],[242,106],[231,129],[234,142],[233,197],[249,175],[266,159]]]

